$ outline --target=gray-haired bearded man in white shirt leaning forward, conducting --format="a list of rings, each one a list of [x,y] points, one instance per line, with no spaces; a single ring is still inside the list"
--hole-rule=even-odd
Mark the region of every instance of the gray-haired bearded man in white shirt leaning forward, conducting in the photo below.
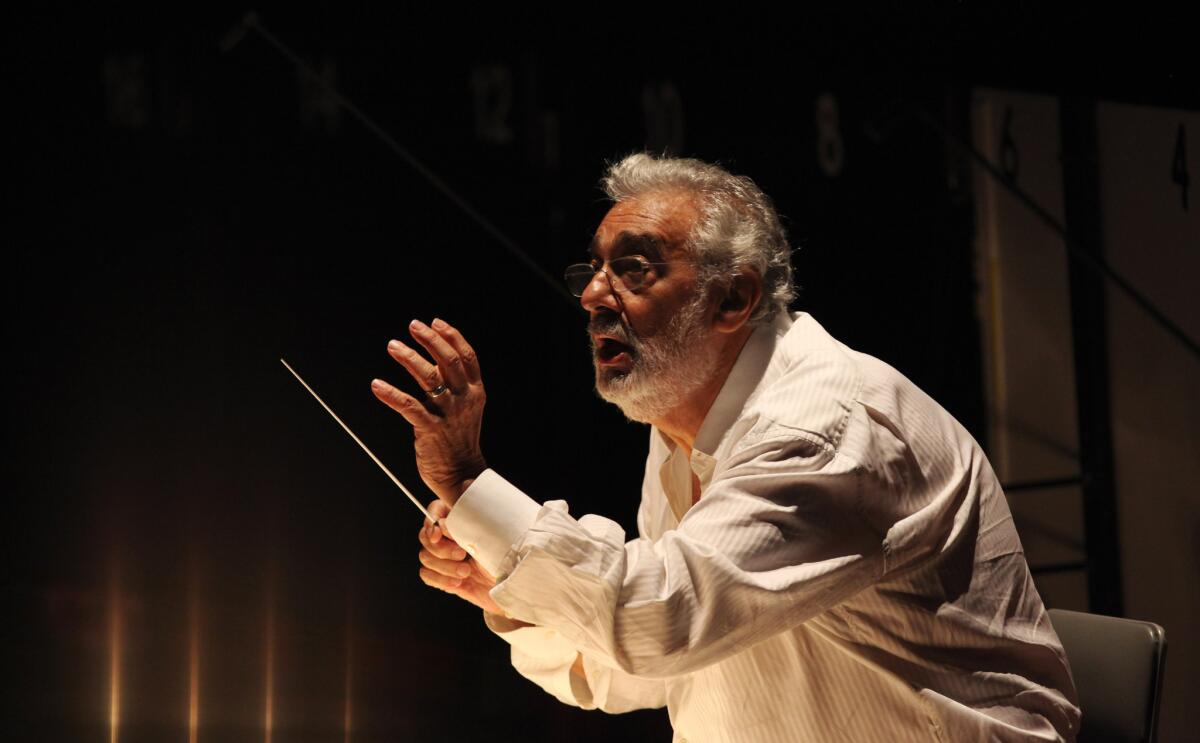
[[[434,364],[389,350],[428,400],[372,388],[454,535],[422,529],[422,580],[482,607],[562,701],[666,706],[677,739],[1073,739],[1070,672],[978,444],[787,313],[790,248],[752,181],[634,155],[604,182],[593,262],[566,277],[596,390],[652,425],[638,535],[487,469],[475,355],[414,322]]]

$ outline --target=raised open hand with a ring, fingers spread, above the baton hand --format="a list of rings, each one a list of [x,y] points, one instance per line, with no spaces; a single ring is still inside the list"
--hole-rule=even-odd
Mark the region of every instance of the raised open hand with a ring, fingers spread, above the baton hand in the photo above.
[[[400,341],[388,343],[388,353],[421,385],[425,400],[382,379],[371,383],[371,391],[413,424],[416,469],[438,498],[454,505],[487,469],[479,448],[486,400],[479,359],[443,320],[434,319],[432,326],[413,320],[408,330],[434,364]]]

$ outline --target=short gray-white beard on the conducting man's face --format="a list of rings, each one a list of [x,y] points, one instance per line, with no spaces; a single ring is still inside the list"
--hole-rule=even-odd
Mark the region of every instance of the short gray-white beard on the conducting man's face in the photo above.
[[[619,317],[593,318],[590,334],[611,336],[628,347],[629,370],[606,368],[596,361],[599,349],[592,336],[592,359],[596,372],[596,394],[616,405],[625,418],[637,423],[661,420],[700,389],[716,368],[716,356],[704,352],[712,332],[704,322],[706,293],[684,306],[662,332],[652,338],[635,335]]]

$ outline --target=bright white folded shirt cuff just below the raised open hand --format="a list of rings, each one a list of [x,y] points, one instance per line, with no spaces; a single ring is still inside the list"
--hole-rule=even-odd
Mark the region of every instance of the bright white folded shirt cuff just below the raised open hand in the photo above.
[[[493,469],[485,469],[446,516],[446,528],[458,546],[474,557],[496,580],[504,557],[521,539],[541,507],[502,478]]]

